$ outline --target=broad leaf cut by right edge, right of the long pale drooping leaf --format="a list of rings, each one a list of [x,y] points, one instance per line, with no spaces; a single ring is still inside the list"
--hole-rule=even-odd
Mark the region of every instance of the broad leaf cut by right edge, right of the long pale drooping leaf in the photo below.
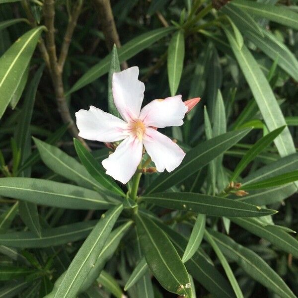
[[[298,61],[295,55],[271,32],[264,29],[262,29],[262,32],[264,36],[257,35],[251,31],[246,31],[245,35],[272,60],[277,59],[277,64],[286,73],[298,80]]]

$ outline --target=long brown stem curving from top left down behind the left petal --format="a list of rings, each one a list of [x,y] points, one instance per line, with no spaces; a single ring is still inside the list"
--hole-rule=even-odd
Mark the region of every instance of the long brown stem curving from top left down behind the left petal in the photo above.
[[[71,134],[79,139],[81,143],[89,149],[85,141],[78,136],[78,129],[74,123],[74,120],[71,116],[66,97],[64,95],[64,86],[62,79],[63,69],[58,64],[57,54],[56,54],[56,44],[55,44],[55,1],[54,0],[45,0],[44,1],[44,18],[45,25],[48,29],[46,34],[47,41],[47,50],[50,58],[50,68],[52,82],[55,90],[58,111],[61,115],[61,118],[64,123],[69,123],[69,131]]]

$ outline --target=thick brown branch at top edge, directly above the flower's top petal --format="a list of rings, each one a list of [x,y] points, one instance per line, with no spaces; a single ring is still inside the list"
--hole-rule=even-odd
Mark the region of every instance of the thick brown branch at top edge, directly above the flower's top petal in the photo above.
[[[117,32],[110,0],[93,0],[93,2],[99,13],[102,25],[102,32],[105,37],[105,42],[108,50],[112,51],[114,44],[117,48],[120,48],[121,43]],[[122,69],[127,69],[127,62],[122,62],[121,67]]]

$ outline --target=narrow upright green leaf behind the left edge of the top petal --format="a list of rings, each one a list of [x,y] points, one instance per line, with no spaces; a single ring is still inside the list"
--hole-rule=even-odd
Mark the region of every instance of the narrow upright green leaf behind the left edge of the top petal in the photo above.
[[[120,63],[118,59],[118,52],[117,47],[114,44],[113,50],[111,53],[111,62],[110,62],[110,70],[109,70],[109,77],[108,77],[108,111],[110,114],[121,118],[115,103],[114,103],[114,97],[113,97],[113,91],[112,91],[112,79],[114,73],[120,72]]]

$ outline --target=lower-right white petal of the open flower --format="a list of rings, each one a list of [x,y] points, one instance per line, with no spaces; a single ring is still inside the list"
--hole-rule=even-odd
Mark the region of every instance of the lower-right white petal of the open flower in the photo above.
[[[184,151],[176,143],[149,127],[146,129],[143,143],[158,172],[163,172],[164,169],[171,172],[185,156]]]

